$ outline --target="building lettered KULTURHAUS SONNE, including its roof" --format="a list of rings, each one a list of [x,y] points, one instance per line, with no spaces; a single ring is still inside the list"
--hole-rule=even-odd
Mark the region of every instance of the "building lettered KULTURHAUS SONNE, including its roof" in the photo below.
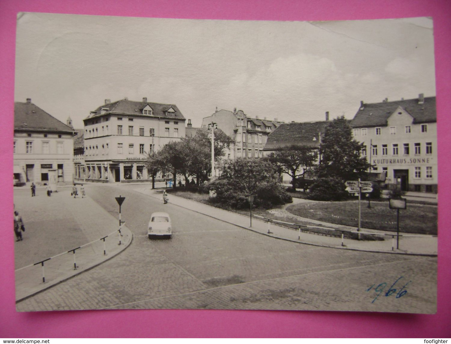
[[[372,172],[403,191],[437,193],[437,114],[435,97],[360,103],[351,121],[363,142]]]

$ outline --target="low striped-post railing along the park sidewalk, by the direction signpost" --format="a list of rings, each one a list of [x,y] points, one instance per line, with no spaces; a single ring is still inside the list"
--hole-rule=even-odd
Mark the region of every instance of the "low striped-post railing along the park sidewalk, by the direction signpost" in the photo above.
[[[268,234],[271,234],[270,231],[270,224],[273,223],[275,225],[281,225],[285,228],[288,229],[293,229],[296,231],[299,231],[299,236],[298,236],[298,240],[301,239],[301,232],[304,233],[310,233],[310,234],[319,234],[319,235],[327,235],[327,234],[321,234],[321,233],[315,233],[314,229],[327,229],[327,230],[331,230],[331,231],[335,231],[340,233],[339,235],[328,235],[330,237],[336,237],[336,238],[340,238],[341,237],[341,246],[345,246],[345,233],[352,233],[355,234],[355,236],[357,237],[358,240],[360,240],[360,235],[361,234],[365,234],[365,235],[373,235],[373,236],[379,236],[379,237],[391,237],[391,250],[394,251],[395,250],[395,246],[396,249],[399,249],[399,239],[400,237],[419,237],[419,238],[437,238],[437,235],[427,235],[427,234],[394,234],[394,233],[374,233],[374,232],[364,232],[364,231],[357,231],[357,230],[351,230],[351,229],[337,229],[337,228],[331,228],[331,227],[320,227],[320,226],[312,226],[312,225],[300,225],[297,223],[291,223],[291,222],[285,222],[285,221],[281,221],[281,220],[274,220],[274,219],[270,219],[264,216],[259,216],[259,215],[252,215],[252,217],[258,218],[260,220],[266,221],[268,223]],[[291,226],[291,227],[289,227]],[[296,227],[296,228],[292,228],[292,227]],[[313,231],[307,230],[307,229],[313,229]],[[351,238],[347,238],[348,240],[354,240]],[[383,239],[385,240],[385,239]]]

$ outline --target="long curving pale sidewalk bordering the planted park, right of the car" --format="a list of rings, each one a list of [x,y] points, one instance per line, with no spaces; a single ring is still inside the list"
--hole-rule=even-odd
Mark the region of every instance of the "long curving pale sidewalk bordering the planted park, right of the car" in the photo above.
[[[146,194],[151,197],[160,199],[161,194],[155,190],[149,188],[149,186],[143,185],[141,188],[135,188],[135,191]],[[419,235],[414,237],[401,236],[400,237],[400,249],[396,249],[396,238],[394,241],[394,250],[392,251],[393,240],[391,236],[386,236],[384,241],[359,241],[344,239],[344,245],[341,246],[341,238],[329,237],[324,235],[303,233],[295,229],[286,228],[280,225],[275,225],[267,221],[258,220],[252,218],[252,227],[250,226],[249,216],[243,216],[232,211],[226,211],[206,204],[194,202],[186,198],[169,195],[169,202],[198,213],[211,216],[218,220],[228,222],[239,227],[253,230],[254,232],[270,236],[272,238],[289,240],[297,243],[304,243],[309,245],[316,245],[330,248],[350,249],[367,252],[385,252],[385,253],[397,253],[397,254],[414,254],[414,255],[427,255],[437,256],[437,237]],[[307,219],[308,220],[308,219]],[[352,229],[353,227],[346,227],[331,223],[325,223],[317,221],[322,225],[336,229]],[[344,228],[346,227],[346,228]],[[361,229],[361,232],[372,233],[386,233],[377,230]]]

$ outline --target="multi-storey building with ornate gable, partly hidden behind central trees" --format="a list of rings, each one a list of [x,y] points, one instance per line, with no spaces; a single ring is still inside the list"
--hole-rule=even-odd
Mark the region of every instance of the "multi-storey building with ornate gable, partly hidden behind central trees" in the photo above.
[[[259,158],[263,156],[268,135],[272,133],[282,122],[266,119],[249,118],[242,110],[219,110],[213,115],[204,117],[202,128],[214,123],[226,135],[233,139],[234,143],[226,152],[227,159]]]

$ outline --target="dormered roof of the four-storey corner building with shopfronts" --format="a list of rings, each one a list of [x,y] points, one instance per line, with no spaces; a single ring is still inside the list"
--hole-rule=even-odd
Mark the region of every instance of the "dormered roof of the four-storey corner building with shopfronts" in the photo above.
[[[144,115],[150,117],[168,117],[166,116],[166,111],[171,107],[175,110],[174,116],[169,116],[169,118],[185,119],[174,104],[159,104],[159,103],[149,103],[143,101],[129,101],[122,99],[120,101],[115,101],[114,103],[104,104],[99,106],[95,111],[95,114],[89,115],[87,118],[93,118],[101,115],[101,109],[107,109],[107,112],[115,112],[124,115],[143,115],[142,110],[146,105],[152,108],[152,115]]]

